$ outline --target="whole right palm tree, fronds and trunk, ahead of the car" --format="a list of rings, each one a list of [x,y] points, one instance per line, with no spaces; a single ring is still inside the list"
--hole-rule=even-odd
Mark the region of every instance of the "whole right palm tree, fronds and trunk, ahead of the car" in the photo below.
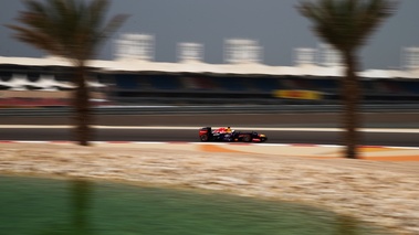
[[[342,83],[346,158],[358,158],[360,139],[357,131],[360,126],[357,53],[379,23],[391,15],[394,7],[391,0],[317,0],[297,6],[300,13],[313,22],[315,33],[341,53],[346,65]]]

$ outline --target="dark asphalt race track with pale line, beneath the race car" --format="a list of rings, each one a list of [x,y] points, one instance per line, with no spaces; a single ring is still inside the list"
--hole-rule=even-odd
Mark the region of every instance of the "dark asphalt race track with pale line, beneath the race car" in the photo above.
[[[419,147],[417,118],[417,114],[366,115],[364,127],[368,129],[362,132],[362,145]],[[101,117],[96,120],[99,127],[95,128],[93,140],[196,142],[199,141],[199,127],[231,126],[235,130],[265,133],[270,143],[342,145],[337,119],[334,114]],[[60,117],[2,117],[0,140],[73,140],[71,120]]]

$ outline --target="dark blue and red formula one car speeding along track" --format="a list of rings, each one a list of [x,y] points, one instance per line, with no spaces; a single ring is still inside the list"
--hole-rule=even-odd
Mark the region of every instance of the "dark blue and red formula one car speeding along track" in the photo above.
[[[206,141],[226,141],[226,142],[264,142],[268,140],[263,133],[255,131],[235,131],[228,128],[213,129],[211,127],[202,127],[199,129],[199,139]]]

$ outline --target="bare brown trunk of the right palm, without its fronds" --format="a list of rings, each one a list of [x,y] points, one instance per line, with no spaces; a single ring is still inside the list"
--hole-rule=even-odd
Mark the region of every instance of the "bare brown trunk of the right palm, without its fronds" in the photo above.
[[[359,103],[359,84],[356,75],[357,58],[352,51],[343,53],[346,64],[346,76],[343,81],[343,124],[346,131],[344,131],[343,141],[346,146],[345,157],[350,159],[358,158],[357,147],[359,145],[360,136],[357,128],[360,126],[358,103]]]

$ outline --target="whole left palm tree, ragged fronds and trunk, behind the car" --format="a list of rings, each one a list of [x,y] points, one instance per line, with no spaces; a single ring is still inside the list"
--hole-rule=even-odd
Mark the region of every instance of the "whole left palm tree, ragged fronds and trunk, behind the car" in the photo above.
[[[87,63],[127,17],[118,14],[105,22],[107,0],[28,0],[24,4],[27,10],[17,19],[23,25],[7,26],[18,40],[65,57],[74,66],[75,139],[78,145],[88,146],[93,118],[86,85]]]

